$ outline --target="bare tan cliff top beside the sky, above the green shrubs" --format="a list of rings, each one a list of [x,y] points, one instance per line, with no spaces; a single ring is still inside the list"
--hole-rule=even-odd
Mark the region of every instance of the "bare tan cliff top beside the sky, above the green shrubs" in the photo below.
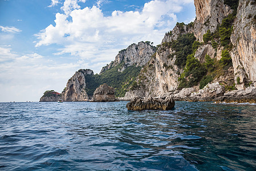
[[[194,22],[194,35],[202,42],[203,35],[210,30],[215,32],[222,19],[232,13],[232,9],[224,5],[224,0],[194,0],[197,19]]]

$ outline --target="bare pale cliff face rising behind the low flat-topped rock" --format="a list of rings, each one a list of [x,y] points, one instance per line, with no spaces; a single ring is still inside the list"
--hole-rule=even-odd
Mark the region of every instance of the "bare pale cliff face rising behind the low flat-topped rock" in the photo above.
[[[174,64],[176,55],[170,58],[170,55],[174,54],[175,51],[166,47],[165,44],[177,40],[178,35],[191,31],[192,28],[186,25],[175,26],[172,32],[165,34],[156,54],[152,56],[137,77],[138,88],[128,91],[122,100],[131,100],[138,96],[164,96],[165,93],[175,91],[178,87],[178,78],[183,70]]]

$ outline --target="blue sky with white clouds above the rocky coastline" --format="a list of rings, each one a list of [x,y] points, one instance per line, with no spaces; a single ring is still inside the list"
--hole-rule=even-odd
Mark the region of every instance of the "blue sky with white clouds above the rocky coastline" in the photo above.
[[[62,92],[79,69],[99,73],[130,44],[156,46],[195,18],[193,0],[0,0],[0,101]]]

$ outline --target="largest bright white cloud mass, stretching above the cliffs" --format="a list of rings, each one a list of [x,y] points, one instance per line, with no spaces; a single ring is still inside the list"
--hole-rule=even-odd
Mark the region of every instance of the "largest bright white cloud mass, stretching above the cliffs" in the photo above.
[[[56,14],[55,26],[49,25],[35,34],[39,39],[36,47],[59,44],[62,48],[56,55],[71,54],[82,60],[96,58],[102,59],[99,62],[110,62],[120,49],[131,43],[142,40],[160,43],[164,33],[176,24],[176,13],[193,0],[154,0],[145,3],[141,11],[116,10],[110,16],[104,16],[100,9],[104,0],[84,9],[78,2],[64,1],[61,7],[64,13]]]

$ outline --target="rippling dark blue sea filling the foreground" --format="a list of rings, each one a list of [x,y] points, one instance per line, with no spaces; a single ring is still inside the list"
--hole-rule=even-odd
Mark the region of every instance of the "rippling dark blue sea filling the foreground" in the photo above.
[[[256,105],[0,103],[0,170],[256,170]]]

